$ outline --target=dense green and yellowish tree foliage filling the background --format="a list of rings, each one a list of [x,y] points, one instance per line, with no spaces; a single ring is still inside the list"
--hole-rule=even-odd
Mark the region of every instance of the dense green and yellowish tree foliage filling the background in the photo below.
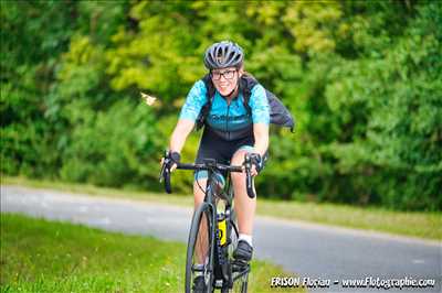
[[[0,13],[2,173],[158,191],[202,53],[230,39],[297,119],[295,135],[272,131],[260,196],[442,209],[436,1],[2,1]],[[176,189],[191,180],[177,172]]]

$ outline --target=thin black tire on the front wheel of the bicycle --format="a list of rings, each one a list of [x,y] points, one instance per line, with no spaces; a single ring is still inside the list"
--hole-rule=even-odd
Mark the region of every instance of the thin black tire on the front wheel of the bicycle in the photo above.
[[[192,292],[193,279],[196,278],[196,246],[200,232],[200,225],[203,218],[207,219],[207,257],[203,263],[202,275],[204,276],[206,292],[213,292],[213,248],[214,248],[214,235],[213,235],[213,210],[208,203],[202,203],[198,209],[193,213],[192,223],[190,226],[189,240],[187,247],[186,257],[186,293]],[[206,245],[203,243],[206,247]],[[203,247],[202,247],[203,248]],[[200,271],[198,270],[198,271]],[[201,273],[201,271],[200,271]]]

